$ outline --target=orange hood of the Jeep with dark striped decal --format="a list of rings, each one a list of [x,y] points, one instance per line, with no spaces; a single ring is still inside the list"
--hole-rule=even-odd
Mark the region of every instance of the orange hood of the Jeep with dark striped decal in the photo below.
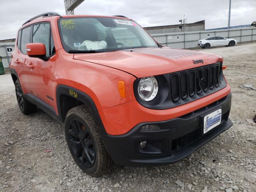
[[[74,54],[74,59],[116,68],[137,78],[186,70],[223,60],[221,56],[212,53],[167,47]],[[193,60],[203,60],[203,63],[194,64]]]

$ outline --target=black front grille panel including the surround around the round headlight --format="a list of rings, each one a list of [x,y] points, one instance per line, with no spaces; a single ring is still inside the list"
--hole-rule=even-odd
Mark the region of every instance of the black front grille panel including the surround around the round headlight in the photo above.
[[[140,78],[134,82],[136,100],[150,109],[170,109],[203,98],[226,87],[222,63],[205,65],[187,70],[154,76],[158,82],[158,94],[144,102],[138,94]]]

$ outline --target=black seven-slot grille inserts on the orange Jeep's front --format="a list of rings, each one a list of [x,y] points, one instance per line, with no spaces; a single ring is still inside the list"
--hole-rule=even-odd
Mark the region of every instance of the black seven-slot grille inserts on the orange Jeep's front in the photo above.
[[[170,75],[171,97],[173,102],[200,95],[210,94],[209,90],[218,88],[221,63],[193,68]]]

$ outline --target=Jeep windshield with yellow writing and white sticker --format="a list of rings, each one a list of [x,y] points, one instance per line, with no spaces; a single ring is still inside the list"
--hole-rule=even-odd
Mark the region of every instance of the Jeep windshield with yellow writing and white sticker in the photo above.
[[[158,47],[136,22],[108,17],[61,18],[62,45],[67,52],[109,52]]]

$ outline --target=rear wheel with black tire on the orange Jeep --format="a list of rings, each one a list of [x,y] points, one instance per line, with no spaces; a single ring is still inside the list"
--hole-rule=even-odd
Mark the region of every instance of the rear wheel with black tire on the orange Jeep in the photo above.
[[[33,113],[36,111],[36,105],[30,103],[26,98],[24,97],[22,88],[20,86],[20,82],[18,79],[15,82],[15,92],[16,92],[16,98],[19,105],[19,108],[22,113],[28,115],[30,113]]]

